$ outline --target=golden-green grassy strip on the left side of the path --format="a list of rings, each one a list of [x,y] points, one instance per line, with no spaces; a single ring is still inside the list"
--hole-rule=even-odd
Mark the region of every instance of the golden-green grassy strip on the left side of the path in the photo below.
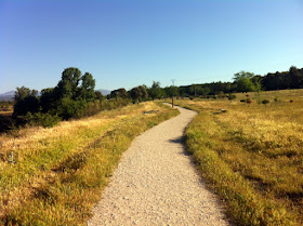
[[[0,136],[0,225],[85,225],[121,154],[179,112],[144,103]]]

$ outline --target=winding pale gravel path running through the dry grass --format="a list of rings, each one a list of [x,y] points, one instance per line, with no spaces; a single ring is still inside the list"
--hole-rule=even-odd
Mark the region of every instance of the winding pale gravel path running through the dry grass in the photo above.
[[[228,225],[182,144],[196,112],[179,109],[134,139],[88,225]]]

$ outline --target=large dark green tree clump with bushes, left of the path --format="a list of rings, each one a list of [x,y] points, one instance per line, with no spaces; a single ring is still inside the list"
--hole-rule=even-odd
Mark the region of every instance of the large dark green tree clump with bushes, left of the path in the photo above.
[[[35,90],[17,88],[13,117],[18,124],[52,127],[60,118],[67,120],[83,117],[88,111],[95,114],[95,109],[92,110],[90,106],[87,109],[89,103],[103,97],[101,93],[95,93],[94,87],[95,80],[91,74],[81,76],[78,68],[66,68],[57,85],[42,90],[40,97],[37,97]]]

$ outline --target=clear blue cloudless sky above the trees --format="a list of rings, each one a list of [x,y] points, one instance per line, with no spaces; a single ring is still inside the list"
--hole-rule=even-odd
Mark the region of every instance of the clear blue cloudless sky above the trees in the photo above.
[[[0,0],[0,93],[91,72],[96,89],[303,67],[303,0]]]

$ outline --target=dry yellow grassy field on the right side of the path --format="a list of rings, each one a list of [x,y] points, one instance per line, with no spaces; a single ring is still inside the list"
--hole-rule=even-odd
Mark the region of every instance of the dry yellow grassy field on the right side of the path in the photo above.
[[[237,225],[303,225],[303,90],[236,95],[176,101],[188,150]]]

